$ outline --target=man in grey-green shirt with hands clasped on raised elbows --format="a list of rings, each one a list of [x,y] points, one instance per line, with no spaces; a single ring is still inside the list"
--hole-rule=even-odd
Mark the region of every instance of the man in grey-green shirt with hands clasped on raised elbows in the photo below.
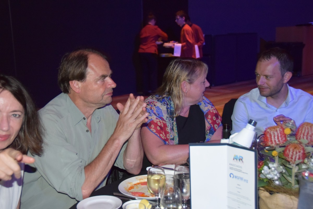
[[[25,172],[21,208],[69,208],[105,185],[112,165],[138,174],[143,150],[143,97],[131,94],[120,115],[110,105],[112,71],[95,50],[66,55],[59,68],[61,90],[40,111],[45,127],[44,154]]]

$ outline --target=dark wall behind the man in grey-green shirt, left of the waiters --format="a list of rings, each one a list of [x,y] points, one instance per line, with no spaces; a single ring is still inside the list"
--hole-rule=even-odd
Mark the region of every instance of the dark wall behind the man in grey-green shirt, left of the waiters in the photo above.
[[[2,1],[3,2],[3,1]],[[8,1],[7,1],[8,2]],[[114,95],[135,92],[132,55],[141,28],[141,1],[10,0],[15,65],[8,3],[1,3],[5,17],[3,73],[16,76],[30,91],[38,107],[60,93],[58,66],[62,56],[78,47],[91,47],[110,58]],[[1,20],[2,22],[2,20]],[[3,28],[2,28],[3,29]],[[11,50],[10,50],[11,49]],[[6,61],[8,60],[8,61]],[[2,63],[2,62],[1,62]]]

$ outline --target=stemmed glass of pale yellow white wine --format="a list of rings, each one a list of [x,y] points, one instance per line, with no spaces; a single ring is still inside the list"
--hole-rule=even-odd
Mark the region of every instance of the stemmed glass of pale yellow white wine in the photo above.
[[[162,167],[151,167],[148,170],[147,186],[149,191],[156,196],[156,209],[160,208],[159,192],[165,187],[165,173]]]

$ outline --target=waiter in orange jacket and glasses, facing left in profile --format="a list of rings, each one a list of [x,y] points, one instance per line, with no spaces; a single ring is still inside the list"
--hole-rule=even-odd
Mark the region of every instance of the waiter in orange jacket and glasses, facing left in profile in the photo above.
[[[186,24],[185,19],[187,14],[184,11],[178,11],[176,13],[175,22],[182,27],[180,33],[180,43],[182,44],[182,51],[180,57],[192,57],[196,58],[195,39],[192,29]]]

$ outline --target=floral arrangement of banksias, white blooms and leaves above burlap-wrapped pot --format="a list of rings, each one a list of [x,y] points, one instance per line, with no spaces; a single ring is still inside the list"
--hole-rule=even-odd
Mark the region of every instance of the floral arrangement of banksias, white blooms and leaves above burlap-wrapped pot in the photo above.
[[[292,121],[293,122],[293,121]],[[313,124],[266,128],[259,152],[258,186],[269,192],[299,195],[297,174],[313,170]]]

